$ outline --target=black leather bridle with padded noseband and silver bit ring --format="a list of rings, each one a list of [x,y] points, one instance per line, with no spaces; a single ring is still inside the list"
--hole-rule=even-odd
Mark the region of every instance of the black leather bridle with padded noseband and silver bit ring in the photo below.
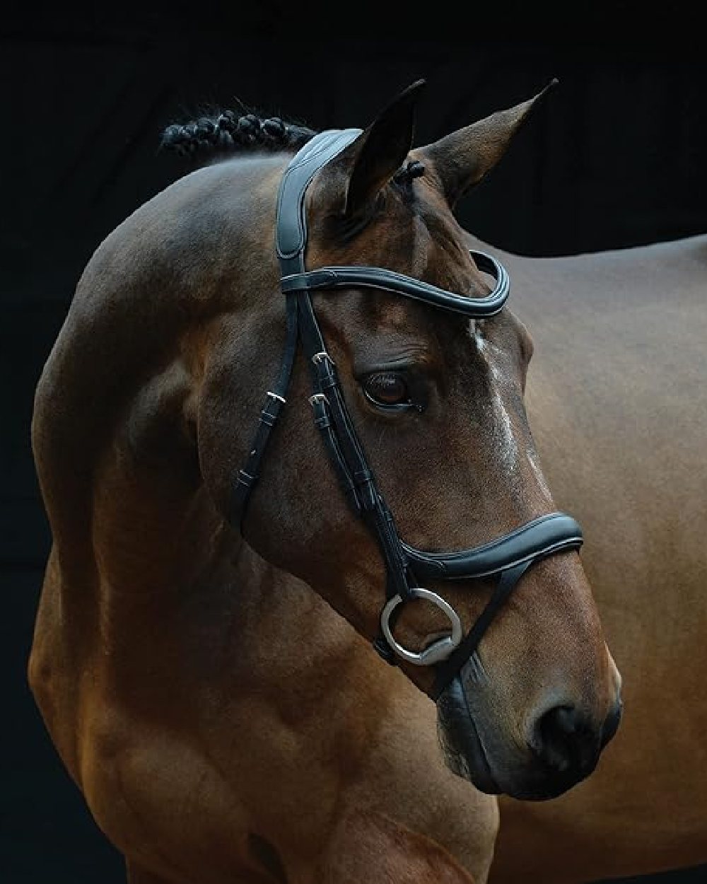
[[[554,552],[578,549],[582,545],[582,529],[571,516],[550,513],[489,544],[458,552],[424,552],[400,539],[353,426],[336,366],[327,353],[309,293],[315,290],[335,291],[349,286],[370,286],[464,316],[485,318],[495,316],[503,308],[509,293],[509,279],[505,268],[496,258],[477,251],[470,252],[476,266],[496,281],[493,291],[485,298],[468,298],[447,292],[381,267],[346,266],[305,270],[307,223],[304,198],[307,187],[315,172],[360,133],[360,129],[345,129],[327,130],[315,135],[293,157],[280,183],[276,240],[286,305],[285,354],[275,385],[266,395],[247,461],[239,470],[232,492],[230,518],[232,524],[239,528],[248,495],[258,478],[270,433],[285,405],[297,344],[301,340],[312,374],[314,394],[309,401],[314,409],[315,425],[322,433],[324,446],[346,497],[354,512],[361,516],[376,537],[384,558],[387,601],[381,612],[379,634],[373,644],[376,651],[390,663],[400,658],[415,666],[435,666],[431,696],[437,699],[475,652],[490,621],[521,575],[536,561]],[[436,592],[418,585],[421,578],[470,580],[492,575],[498,575],[496,588],[467,636],[464,636],[460,617],[452,606]],[[436,605],[452,625],[450,635],[437,638],[422,652],[409,651],[399,644],[392,633],[400,606],[413,598],[423,598]]]

